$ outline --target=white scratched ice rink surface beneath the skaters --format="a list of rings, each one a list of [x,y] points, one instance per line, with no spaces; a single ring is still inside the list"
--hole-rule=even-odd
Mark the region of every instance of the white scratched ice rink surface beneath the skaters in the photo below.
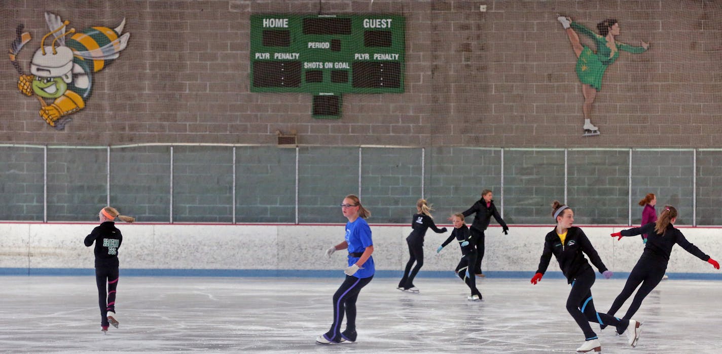
[[[417,294],[396,290],[396,279],[374,279],[357,303],[357,342],[318,345],[341,271],[310,279],[122,271],[120,327],[107,334],[94,277],[0,277],[0,353],[575,353],[584,340],[565,311],[569,285],[560,279],[479,280],[480,302],[467,301],[468,288],[451,276],[419,275]],[[625,280],[597,276],[594,304],[606,311]],[[721,296],[722,282],[664,280],[635,315],[644,321],[635,348],[612,327],[592,328],[602,353],[717,353]]]

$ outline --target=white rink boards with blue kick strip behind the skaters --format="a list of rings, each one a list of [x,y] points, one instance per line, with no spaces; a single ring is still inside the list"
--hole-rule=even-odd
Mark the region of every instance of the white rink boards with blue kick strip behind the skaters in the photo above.
[[[92,269],[92,247],[84,237],[96,224],[0,224],[0,274],[74,275]],[[143,225],[118,223],[123,243],[118,251],[126,275],[342,275],[344,251],[327,259],[324,251],[344,240],[343,224],[336,225]],[[530,277],[539,265],[544,236],[552,226],[519,227],[508,236],[501,228],[487,230],[482,269],[498,277]],[[396,277],[408,261],[405,238],[411,228],[371,225],[374,261],[381,277]],[[606,267],[621,276],[642,254],[639,237],[616,238],[612,227],[583,227]],[[721,258],[717,228],[682,228],[687,239],[715,259]],[[422,276],[453,276],[461,251],[453,243],[439,254],[436,248],[450,235],[429,233],[425,241]],[[263,272],[261,272],[263,271]],[[559,273],[557,263],[549,274]],[[719,270],[675,247],[668,272],[678,279],[704,277],[722,280]],[[84,274],[83,273],[83,274]]]

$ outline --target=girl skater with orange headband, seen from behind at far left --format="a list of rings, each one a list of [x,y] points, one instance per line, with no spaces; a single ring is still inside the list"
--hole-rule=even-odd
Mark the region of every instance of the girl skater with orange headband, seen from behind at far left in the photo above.
[[[121,230],[116,228],[116,217],[126,223],[133,223],[134,217],[120,215],[113,207],[104,207],[98,212],[100,225],[85,236],[85,246],[95,242],[95,283],[100,306],[100,328],[108,331],[109,324],[118,328],[116,316],[116,288],[118,287],[118,249],[123,242]],[[106,289],[106,285],[108,288]]]

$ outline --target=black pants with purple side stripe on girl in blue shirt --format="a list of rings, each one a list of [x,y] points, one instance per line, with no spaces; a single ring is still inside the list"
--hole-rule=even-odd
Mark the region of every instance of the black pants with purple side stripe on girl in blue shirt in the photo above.
[[[323,334],[326,340],[341,342],[341,338],[344,337],[346,340],[356,341],[356,300],[361,289],[371,282],[371,279],[373,276],[363,279],[346,276],[346,280],[334,294],[334,323],[331,324],[329,332]],[[346,312],[346,330],[342,333],[341,322],[344,320],[344,312]]]

